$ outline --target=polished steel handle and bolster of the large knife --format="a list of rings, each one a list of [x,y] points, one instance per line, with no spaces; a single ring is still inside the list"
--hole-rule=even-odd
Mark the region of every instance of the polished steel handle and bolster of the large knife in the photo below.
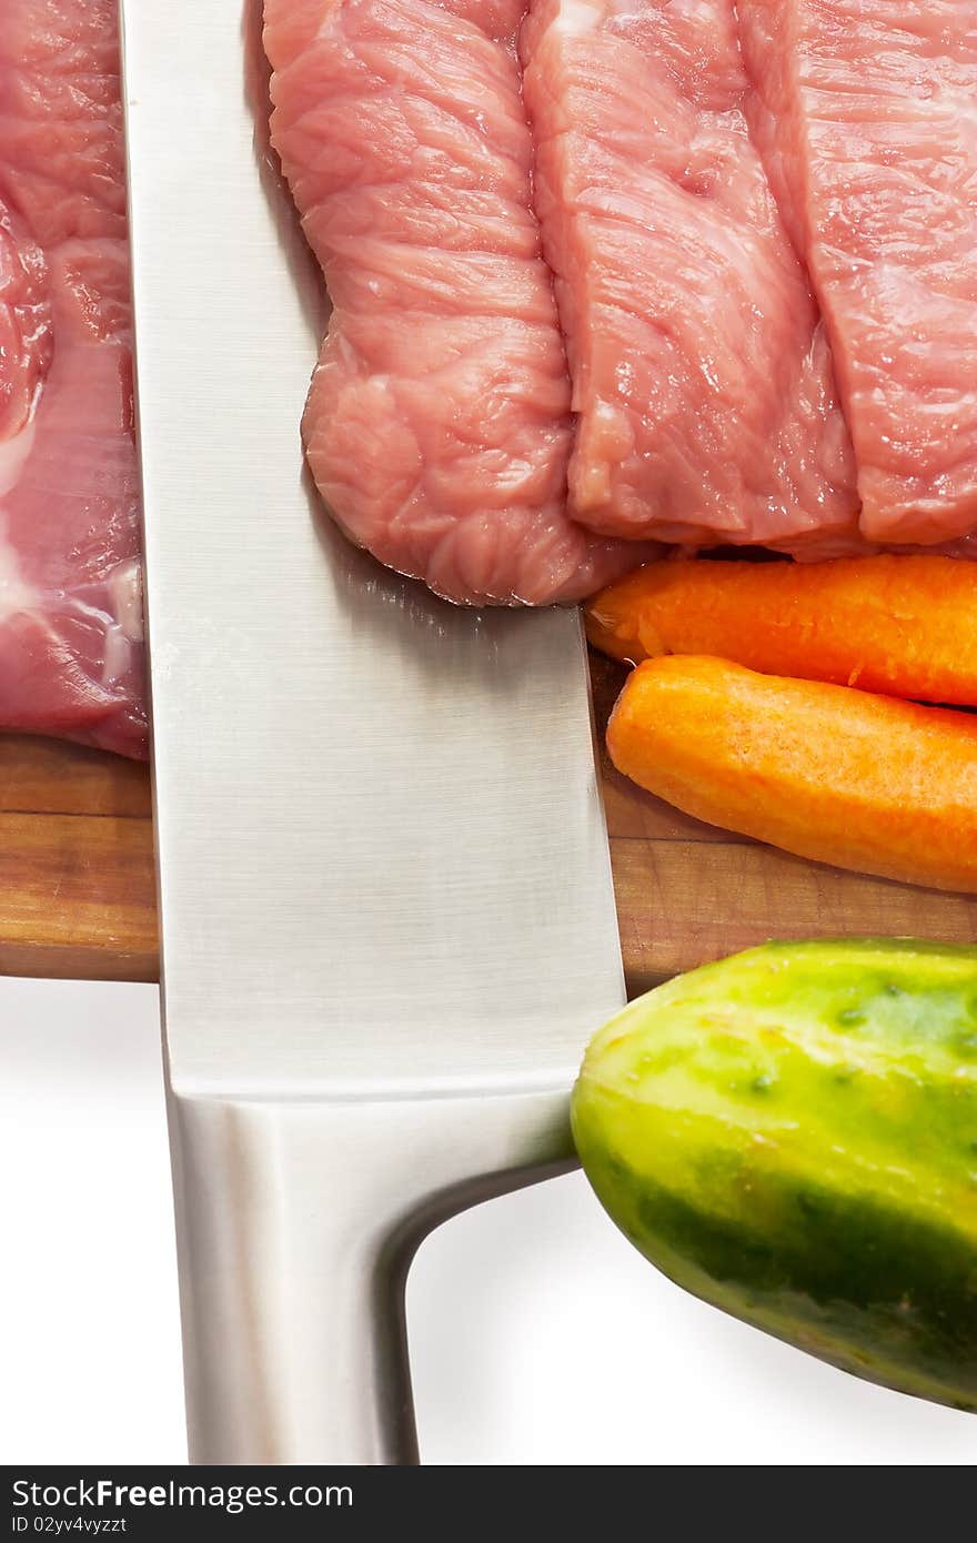
[[[190,1461],[420,1461],[404,1284],[446,1216],[573,1165],[566,1089],[171,1094]]]

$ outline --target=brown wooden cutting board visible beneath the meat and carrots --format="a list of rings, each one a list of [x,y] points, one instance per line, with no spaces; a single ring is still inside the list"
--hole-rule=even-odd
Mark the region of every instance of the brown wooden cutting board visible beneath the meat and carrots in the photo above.
[[[624,670],[591,657],[600,742]],[[977,941],[977,896],[806,863],[678,815],[602,758],[631,994],[764,938]],[[0,736],[0,974],[156,980],[145,767]]]

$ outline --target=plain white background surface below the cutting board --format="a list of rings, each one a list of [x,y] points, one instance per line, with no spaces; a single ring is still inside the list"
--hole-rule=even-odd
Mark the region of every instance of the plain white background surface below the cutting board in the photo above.
[[[184,1463],[156,991],[0,980],[0,1461]],[[573,1174],[446,1224],[407,1316],[434,1464],[965,1464],[977,1420],[685,1296]]]

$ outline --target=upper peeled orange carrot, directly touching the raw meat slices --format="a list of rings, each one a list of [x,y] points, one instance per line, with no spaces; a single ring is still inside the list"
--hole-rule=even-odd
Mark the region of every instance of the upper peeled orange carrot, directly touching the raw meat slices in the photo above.
[[[766,674],[977,707],[977,565],[654,562],[590,602],[596,648],[637,663],[715,654]]]

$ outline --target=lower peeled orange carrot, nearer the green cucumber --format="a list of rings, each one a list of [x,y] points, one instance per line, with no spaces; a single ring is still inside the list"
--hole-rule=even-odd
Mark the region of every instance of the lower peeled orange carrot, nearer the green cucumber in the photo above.
[[[634,670],[611,761],[698,819],[860,873],[977,892],[977,719],[707,657]]]

